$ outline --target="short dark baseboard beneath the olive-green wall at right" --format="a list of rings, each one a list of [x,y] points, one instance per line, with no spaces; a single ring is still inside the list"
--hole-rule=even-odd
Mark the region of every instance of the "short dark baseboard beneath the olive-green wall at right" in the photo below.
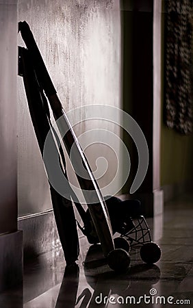
[[[185,192],[193,192],[193,181],[188,180],[181,183],[163,185],[162,190],[164,191],[164,202],[168,202],[177,198],[177,196],[184,194]]]

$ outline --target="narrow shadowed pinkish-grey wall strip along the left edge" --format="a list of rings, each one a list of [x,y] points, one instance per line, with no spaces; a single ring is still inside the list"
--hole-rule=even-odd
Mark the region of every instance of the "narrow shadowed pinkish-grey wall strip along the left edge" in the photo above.
[[[16,230],[16,1],[0,3],[0,233]]]

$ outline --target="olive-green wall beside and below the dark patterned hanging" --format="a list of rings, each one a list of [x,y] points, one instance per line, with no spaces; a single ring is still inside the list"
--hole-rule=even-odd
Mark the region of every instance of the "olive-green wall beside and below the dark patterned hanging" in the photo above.
[[[164,118],[164,14],[162,15],[162,119]],[[161,127],[161,185],[183,184],[193,177],[193,135]]]

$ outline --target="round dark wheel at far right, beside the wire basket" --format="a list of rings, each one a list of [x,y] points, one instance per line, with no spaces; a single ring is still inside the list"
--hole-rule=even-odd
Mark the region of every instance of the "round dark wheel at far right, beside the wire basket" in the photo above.
[[[154,264],[161,257],[161,249],[156,243],[146,243],[140,248],[140,256],[145,263]]]

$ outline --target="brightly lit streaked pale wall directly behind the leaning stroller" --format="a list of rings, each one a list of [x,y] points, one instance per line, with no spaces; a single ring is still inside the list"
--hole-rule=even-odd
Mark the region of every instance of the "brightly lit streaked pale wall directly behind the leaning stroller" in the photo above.
[[[118,0],[20,0],[18,20],[27,21],[66,111],[88,104],[120,107],[120,8]],[[21,38],[19,44],[23,45]],[[80,114],[83,116],[83,114]],[[104,124],[104,123],[103,123]],[[77,132],[101,127],[100,120],[81,123]],[[103,129],[118,133],[106,123]],[[107,154],[105,146],[87,151],[92,166]],[[100,179],[109,181],[116,164]],[[51,208],[49,187],[31,126],[23,81],[18,77],[19,216]]]

